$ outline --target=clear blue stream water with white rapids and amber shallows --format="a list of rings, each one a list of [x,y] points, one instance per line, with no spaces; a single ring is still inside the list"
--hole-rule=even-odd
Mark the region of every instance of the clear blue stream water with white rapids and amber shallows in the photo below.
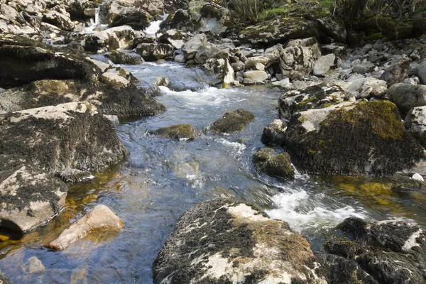
[[[307,236],[315,250],[327,229],[350,216],[409,218],[426,225],[426,192],[412,182],[307,175],[284,181],[256,173],[251,156],[263,146],[263,127],[278,117],[277,89],[207,87],[200,70],[175,63],[123,67],[144,84],[167,75],[172,84],[201,87],[181,92],[160,87],[163,96],[156,99],[167,107],[165,113],[116,128],[130,153],[124,163],[92,182],[72,185],[65,211],[47,226],[20,241],[0,243],[0,270],[16,283],[152,283],[151,265],[182,212],[214,197],[256,204]],[[238,108],[256,115],[244,131],[209,133],[212,122]],[[173,141],[148,134],[182,123],[193,124],[200,136]],[[111,208],[125,228],[94,234],[65,251],[43,247],[95,204]],[[43,263],[44,273],[23,274],[21,264],[31,256]]]

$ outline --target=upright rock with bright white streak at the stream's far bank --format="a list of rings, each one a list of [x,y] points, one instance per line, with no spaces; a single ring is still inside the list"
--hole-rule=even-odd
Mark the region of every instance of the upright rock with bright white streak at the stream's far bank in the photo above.
[[[228,53],[217,53],[207,60],[203,67],[207,71],[217,75],[217,77],[223,82],[224,87],[227,87],[234,82],[235,72],[229,62]]]

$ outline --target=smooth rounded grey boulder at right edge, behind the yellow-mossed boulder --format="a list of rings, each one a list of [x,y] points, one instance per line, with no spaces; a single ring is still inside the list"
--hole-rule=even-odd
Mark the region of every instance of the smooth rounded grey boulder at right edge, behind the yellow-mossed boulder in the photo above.
[[[388,97],[401,111],[413,107],[426,106],[426,86],[413,84],[393,84],[388,89]]]

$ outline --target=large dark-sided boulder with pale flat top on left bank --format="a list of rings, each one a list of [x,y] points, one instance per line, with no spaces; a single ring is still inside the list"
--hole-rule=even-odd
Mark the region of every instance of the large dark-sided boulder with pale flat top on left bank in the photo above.
[[[11,160],[34,163],[64,180],[70,169],[87,177],[89,171],[119,163],[126,154],[114,126],[88,102],[5,114],[0,149]]]

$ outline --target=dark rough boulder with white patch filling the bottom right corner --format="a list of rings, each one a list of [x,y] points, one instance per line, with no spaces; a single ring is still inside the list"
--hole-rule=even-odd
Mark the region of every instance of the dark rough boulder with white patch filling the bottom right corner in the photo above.
[[[417,224],[351,217],[324,244],[329,283],[424,283],[425,234]]]

